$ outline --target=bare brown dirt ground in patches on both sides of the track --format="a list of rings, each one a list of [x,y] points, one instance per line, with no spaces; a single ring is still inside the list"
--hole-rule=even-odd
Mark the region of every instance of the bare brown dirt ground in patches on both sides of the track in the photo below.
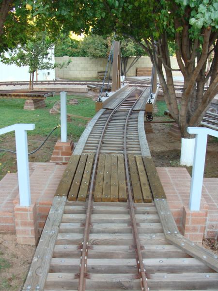
[[[171,124],[153,124],[153,133],[146,133],[152,157],[158,167],[179,166],[180,141],[171,137],[169,134],[170,126]],[[41,150],[30,156],[30,161],[49,162],[56,139],[55,137],[50,138]],[[28,140],[31,147],[36,148],[43,139],[35,136]],[[4,146],[12,148],[14,145],[14,140],[11,138],[1,141],[2,148]],[[209,138],[204,177],[218,177],[217,152],[218,143]],[[5,170],[16,172],[15,156],[7,153],[1,159],[1,163],[8,161],[8,159],[11,160],[11,163],[9,168]],[[187,170],[191,173],[191,167]],[[203,246],[218,253],[218,242],[215,240],[205,240]],[[21,290],[34,250],[35,248],[32,246],[17,244],[15,234],[0,234],[0,291]]]

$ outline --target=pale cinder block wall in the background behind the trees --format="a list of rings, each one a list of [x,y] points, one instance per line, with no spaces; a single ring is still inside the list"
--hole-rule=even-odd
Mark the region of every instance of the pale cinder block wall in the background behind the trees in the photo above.
[[[130,65],[134,57],[130,57],[128,64]],[[73,80],[85,80],[85,79],[97,79],[98,71],[105,71],[108,60],[107,59],[92,59],[89,57],[56,57],[55,63],[62,64],[67,63],[69,60],[72,62],[62,68],[55,69],[55,77],[61,79],[73,79]],[[178,69],[178,64],[175,57],[171,57],[171,66],[174,69]],[[128,71],[127,76],[136,76],[137,67],[152,67],[152,63],[149,57],[141,57],[135,65]],[[173,76],[182,76],[180,72],[172,72]]]

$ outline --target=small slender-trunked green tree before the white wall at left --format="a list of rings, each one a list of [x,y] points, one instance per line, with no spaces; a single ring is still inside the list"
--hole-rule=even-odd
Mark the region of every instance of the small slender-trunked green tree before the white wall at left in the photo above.
[[[54,68],[51,63],[52,55],[49,49],[52,49],[46,32],[35,32],[32,38],[23,46],[11,49],[7,53],[2,54],[2,62],[4,64],[15,64],[17,66],[29,66],[31,74],[30,88],[33,89],[34,73],[37,70],[45,70]]]

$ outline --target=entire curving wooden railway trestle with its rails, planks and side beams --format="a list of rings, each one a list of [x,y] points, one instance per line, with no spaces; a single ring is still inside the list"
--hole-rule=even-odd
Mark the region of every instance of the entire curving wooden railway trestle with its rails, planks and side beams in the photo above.
[[[179,233],[134,112],[98,112],[57,188],[23,291],[218,290],[218,258]],[[114,101],[116,102],[116,100]]]

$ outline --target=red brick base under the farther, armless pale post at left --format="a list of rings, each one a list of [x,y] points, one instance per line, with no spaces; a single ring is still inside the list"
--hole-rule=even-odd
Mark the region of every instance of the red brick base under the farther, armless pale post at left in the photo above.
[[[72,155],[73,147],[74,143],[72,141],[62,143],[60,140],[58,140],[54,146],[50,162],[66,164]]]

